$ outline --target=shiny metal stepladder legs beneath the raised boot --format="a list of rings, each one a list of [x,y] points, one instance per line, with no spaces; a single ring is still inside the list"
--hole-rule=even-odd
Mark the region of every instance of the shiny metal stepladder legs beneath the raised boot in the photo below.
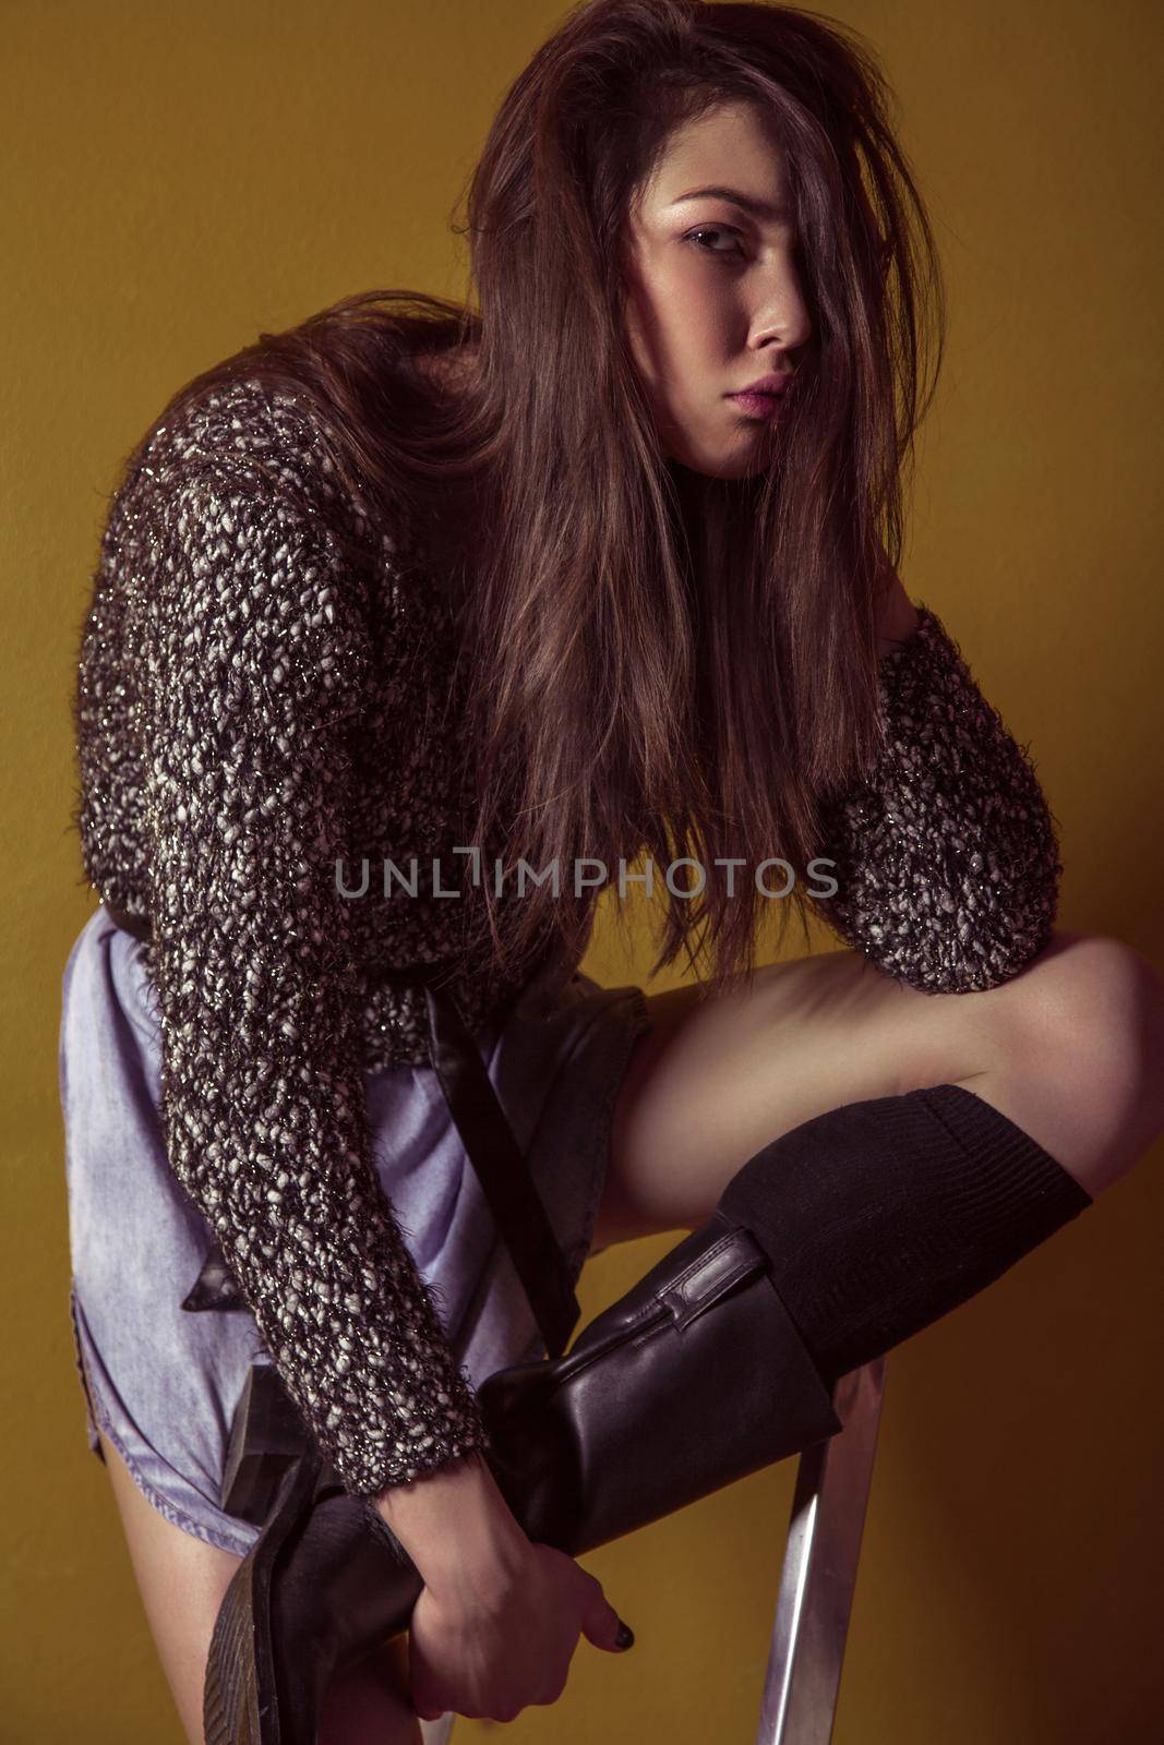
[[[885,1358],[843,1375],[843,1427],[799,1457],[754,1745],[832,1738],[883,1396]],[[424,1745],[448,1745],[454,1719],[422,1721]]]

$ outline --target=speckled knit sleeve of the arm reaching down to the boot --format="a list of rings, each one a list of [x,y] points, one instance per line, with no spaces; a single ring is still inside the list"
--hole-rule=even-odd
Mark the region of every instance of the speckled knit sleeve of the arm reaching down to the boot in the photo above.
[[[366,611],[302,494],[229,455],[140,520],[138,731],[171,1167],[351,1494],[489,1440],[380,1192],[335,890]],[[391,749],[386,749],[391,756]]]

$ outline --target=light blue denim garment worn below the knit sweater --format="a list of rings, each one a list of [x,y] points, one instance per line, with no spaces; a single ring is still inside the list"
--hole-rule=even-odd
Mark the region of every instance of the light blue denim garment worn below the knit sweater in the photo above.
[[[649,1030],[640,988],[578,974],[531,984],[482,1059],[578,1279],[590,1253],[609,1127],[632,1049]],[[220,1508],[234,1408],[270,1361],[250,1309],[181,1309],[215,1235],[169,1169],[159,1113],[161,1033],[143,946],[99,907],[63,977],[70,1312],[89,1447],[96,1427],[168,1520],[248,1551],[258,1529]],[[380,1190],[475,1387],[544,1354],[476,1171],[431,1066],[372,1068],[366,1108]]]

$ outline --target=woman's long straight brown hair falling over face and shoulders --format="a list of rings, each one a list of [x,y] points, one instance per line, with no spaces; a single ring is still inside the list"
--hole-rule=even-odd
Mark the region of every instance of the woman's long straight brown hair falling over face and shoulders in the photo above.
[[[782,141],[811,318],[789,415],[750,478],[660,454],[623,328],[627,215],[672,131],[745,99]],[[227,377],[318,405],[335,464],[408,530],[455,607],[476,759],[473,841],[497,822],[560,895],[485,881],[496,949],[550,911],[583,944],[576,862],[654,862],[665,934],[712,986],[752,972],[752,872],[784,857],[805,927],[824,804],[880,743],[876,612],[946,309],[890,94],[846,26],[784,5],[590,0],[506,92],[468,188],[469,298],[344,298],[264,333]],[[471,293],[476,288],[473,307]],[[925,372],[927,342],[934,365]],[[476,347],[471,393],[412,366]],[[166,415],[162,414],[162,417]],[[661,883],[689,857],[705,888]],[[743,862],[735,895],[717,859]],[[506,879],[504,890],[511,888]],[[806,930],[805,930],[806,937]]]

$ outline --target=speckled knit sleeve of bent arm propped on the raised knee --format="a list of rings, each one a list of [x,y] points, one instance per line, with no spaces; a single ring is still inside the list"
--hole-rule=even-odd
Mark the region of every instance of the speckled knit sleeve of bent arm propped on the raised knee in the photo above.
[[[986,701],[941,619],[881,656],[885,736],[869,782],[825,808],[834,897],[820,914],[890,975],[970,993],[1049,941],[1059,841],[1026,747]]]

